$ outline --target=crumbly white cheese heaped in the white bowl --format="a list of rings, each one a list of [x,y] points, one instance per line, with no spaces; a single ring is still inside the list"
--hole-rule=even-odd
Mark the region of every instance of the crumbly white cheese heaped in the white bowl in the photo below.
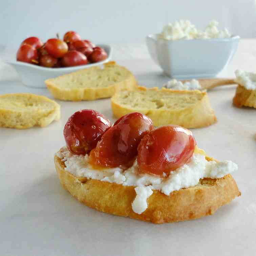
[[[158,38],[166,40],[191,40],[191,39],[211,39],[211,38],[230,38],[228,29],[218,29],[219,22],[212,20],[204,31],[196,28],[189,20],[179,20],[174,23],[168,23],[164,26],[162,33]]]

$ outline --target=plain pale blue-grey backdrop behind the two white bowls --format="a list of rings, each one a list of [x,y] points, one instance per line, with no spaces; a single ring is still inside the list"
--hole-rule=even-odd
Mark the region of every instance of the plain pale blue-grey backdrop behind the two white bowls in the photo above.
[[[143,42],[164,24],[189,19],[200,28],[216,19],[232,34],[256,36],[255,0],[0,0],[0,44],[17,48],[29,36],[43,41],[78,31],[95,43]]]

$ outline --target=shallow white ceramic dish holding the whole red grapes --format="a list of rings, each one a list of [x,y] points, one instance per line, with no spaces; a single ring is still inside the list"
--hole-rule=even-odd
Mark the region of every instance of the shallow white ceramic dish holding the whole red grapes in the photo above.
[[[75,67],[64,67],[64,68],[46,68],[37,65],[21,62],[21,61],[6,61],[11,64],[17,70],[23,84],[30,87],[43,88],[46,87],[44,81],[48,78],[55,78],[63,74],[71,73],[83,68],[89,68],[93,66],[99,66],[111,59],[112,48],[107,44],[97,45],[105,49],[108,58],[104,61],[97,63],[91,63],[87,65],[75,66]]]

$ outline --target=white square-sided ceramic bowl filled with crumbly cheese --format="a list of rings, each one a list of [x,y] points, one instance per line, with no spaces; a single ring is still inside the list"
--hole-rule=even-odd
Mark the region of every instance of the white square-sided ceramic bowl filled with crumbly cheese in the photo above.
[[[234,56],[239,36],[231,38],[164,40],[146,38],[154,62],[171,78],[215,77]]]

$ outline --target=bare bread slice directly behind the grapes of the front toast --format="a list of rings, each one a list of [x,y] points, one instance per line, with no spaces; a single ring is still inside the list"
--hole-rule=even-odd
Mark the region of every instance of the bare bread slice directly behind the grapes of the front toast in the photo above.
[[[185,128],[199,128],[212,125],[217,120],[207,92],[198,90],[138,87],[134,91],[115,93],[111,98],[111,106],[116,118],[131,112],[141,112],[155,126],[175,124]]]

